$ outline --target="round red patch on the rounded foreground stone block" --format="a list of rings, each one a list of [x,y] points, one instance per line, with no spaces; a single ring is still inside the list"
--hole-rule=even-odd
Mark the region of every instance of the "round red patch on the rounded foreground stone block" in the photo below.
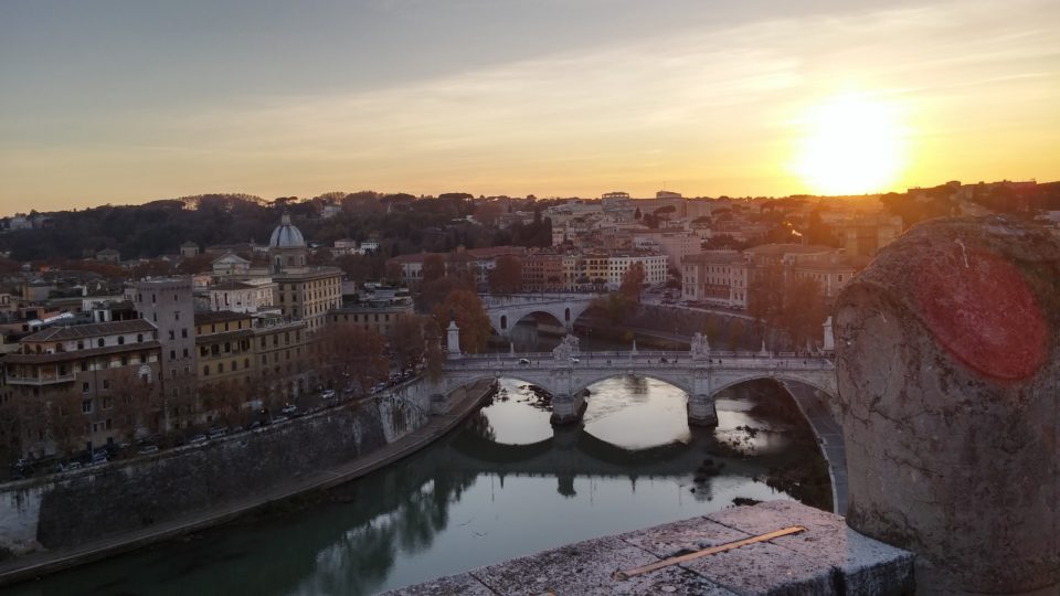
[[[1045,361],[1041,307],[1011,263],[955,243],[921,263],[919,281],[928,328],[960,362],[1013,381],[1032,375]]]

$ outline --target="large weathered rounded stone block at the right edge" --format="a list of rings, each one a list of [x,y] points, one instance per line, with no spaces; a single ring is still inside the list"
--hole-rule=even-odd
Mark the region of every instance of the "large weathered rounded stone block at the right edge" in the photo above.
[[[1060,586],[1060,244],[933,220],[836,305],[847,521],[918,554],[925,593]]]

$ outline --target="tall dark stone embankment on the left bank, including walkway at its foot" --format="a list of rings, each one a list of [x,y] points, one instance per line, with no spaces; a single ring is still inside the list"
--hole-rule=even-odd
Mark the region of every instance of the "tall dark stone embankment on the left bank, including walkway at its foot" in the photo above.
[[[489,383],[438,406],[430,387],[223,437],[201,446],[0,487],[0,585],[231,520],[338,486],[456,427]],[[452,406],[452,407],[449,407]]]

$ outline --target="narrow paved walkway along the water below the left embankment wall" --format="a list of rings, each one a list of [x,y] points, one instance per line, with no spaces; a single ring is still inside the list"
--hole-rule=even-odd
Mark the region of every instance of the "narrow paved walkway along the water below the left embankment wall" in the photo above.
[[[248,511],[289,499],[297,494],[332,488],[365,476],[379,468],[407,457],[446,435],[474,412],[481,403],[488,387],[487,383],[476,385],[466,396],[454,403],[446,414],[431,416],[423,427],[405,435],[371,454],[351,460],[342,466],[312,472],[299,479],[277,485],[268,490],[258,491],[246,499],[204,509],[192,515],[157,523],[135,532],[83,544],[73,549],[49,551],[20,556],[0,564],[0,586],[30,579],[66,567],[74,567],[98,561],[118,553],[131,551],[162,542],[181,534],[202,530],[231,521]]]

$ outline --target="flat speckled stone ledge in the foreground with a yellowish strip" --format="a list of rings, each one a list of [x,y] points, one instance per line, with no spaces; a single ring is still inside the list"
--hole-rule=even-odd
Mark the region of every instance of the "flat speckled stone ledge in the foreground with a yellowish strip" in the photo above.
[[[791,525],[783,536],[638,575],[628,570]],[[913,594],[912,553],[850,530],[839,515],[791,501],[727,509],[593,539],[386,594]]]

